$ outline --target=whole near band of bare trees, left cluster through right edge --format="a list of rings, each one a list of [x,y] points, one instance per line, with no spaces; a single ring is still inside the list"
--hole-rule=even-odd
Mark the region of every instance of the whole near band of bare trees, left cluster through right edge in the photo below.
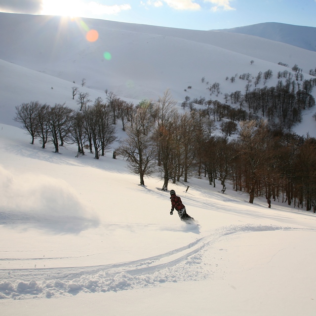
[[[165,191],[170,181],[204,176],[213,186],[219,180],[223,193],[231,183],[234,190],[249,194],[250,203],[263,196],[315,211],[316,139],[288,132],[272,120],[249,118],[244,110],[218,101],[183,114],[176,104],[169,90],[158,102],[143,100],[135,107],[109,93],[107,102],[97,98],[82,111],[64,104],[22,104],[16,107],[14,119],[29,131],[32,143],[39,138],[45,148],[51,142],[56,152],[64,142],[74,143],[78,153],[84,155],[87,147],[96,159],[116,140],[120,119],[126,137],[116,153],[127,158],[141,185],[157,171]],[[234,125],[231,132],[238,132],[238,137],[224,132],[229,124],[221,124],[222,135],[214,135],[216,120],[239,122],[239,131]]]

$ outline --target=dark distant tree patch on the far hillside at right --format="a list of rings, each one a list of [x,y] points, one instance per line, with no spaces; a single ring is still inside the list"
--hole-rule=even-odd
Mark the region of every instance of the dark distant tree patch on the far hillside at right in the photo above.
[[[288,72],[286,72],[286,76],[287,74]],[[264,73],[265,78],[269,78],[271,75],[269,71]],[[262,73],[259,73],[257,80],[261,76]],[[241,77],[246,78],[247,74],[243,74]],[[316,85],[316,79],[297,82],[288,77],[285,83],[282,80],[278,80],[276,86],[265,86],[263,88],[254,88],[253,90],[250,90],[251,80],[249,79],[248,81],[244,94],[239,90],[225,93],[225,103],[218,100],[206,100],[202,97],[199,99],[195,98],[189,102],[190,97],[186,96],[182,107],[189,107],[192,111],[198,105],[204,105],[206,107],[204,111],[208,111],[208,115],[213,116],[215,121],[221,121],[223,118],[239,121],[260,116],[290,129],[295,123],[301,121],[303,110],[315,106],[315,98],[311,92]],[[239,109],[229,106],[228,103],[239,105]]]

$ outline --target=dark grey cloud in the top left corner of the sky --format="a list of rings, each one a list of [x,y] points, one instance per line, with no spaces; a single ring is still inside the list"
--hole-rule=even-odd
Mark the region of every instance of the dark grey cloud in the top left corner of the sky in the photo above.
[[[0,0],[0,11],[9,13],[40,13],[42,0]]]

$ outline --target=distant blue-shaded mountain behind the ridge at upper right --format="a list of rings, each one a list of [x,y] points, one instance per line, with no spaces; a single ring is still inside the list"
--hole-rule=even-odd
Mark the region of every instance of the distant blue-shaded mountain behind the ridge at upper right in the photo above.
[[[257,36],[316,51],[316,28],[314,27],[267,22],[216,31]]]

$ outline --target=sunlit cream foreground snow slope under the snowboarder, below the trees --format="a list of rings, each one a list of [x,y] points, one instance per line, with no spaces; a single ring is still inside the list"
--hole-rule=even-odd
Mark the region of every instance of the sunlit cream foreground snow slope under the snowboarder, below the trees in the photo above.
[[[314,315],[315,214],[191,178],[188,226],[120,158],[5,124],[0,153],[1,315]]]

